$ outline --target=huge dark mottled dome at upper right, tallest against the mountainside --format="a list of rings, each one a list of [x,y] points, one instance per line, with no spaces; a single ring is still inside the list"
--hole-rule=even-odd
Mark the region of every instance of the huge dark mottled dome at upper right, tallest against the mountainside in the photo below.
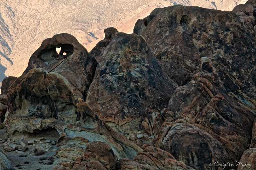
[[[188,83],[200,59],[207,57],[229,95],[256,110],[255,30],[233,12],[181,5],[157,8],[137,21],[134,33],[145,37],[163,70],[179,85]],[[172,73],[170,65],[175,65]]]

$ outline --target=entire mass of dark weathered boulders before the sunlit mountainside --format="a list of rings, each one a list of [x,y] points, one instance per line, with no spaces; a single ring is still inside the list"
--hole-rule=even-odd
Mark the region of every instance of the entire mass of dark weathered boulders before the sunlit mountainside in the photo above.
[[[157,8],[90,54],[70,34],[44,40],[3,81],[0,147],[54,152],[39,161],[54,170],[254,169],[254,6]]]

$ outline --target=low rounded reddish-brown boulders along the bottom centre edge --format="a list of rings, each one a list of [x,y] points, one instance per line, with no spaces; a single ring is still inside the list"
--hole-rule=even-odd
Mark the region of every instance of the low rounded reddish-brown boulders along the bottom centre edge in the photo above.
[[[102,142],[92,142],[83,154],[73,163],[62,163],[54,170],[59,169],[95,169],[95,170],[124,170],[124,169],[148,169],[148,170],[193,170],[183,162],[177,161],[170,153],[159,148],[146,147],[139,152],[134,161],[118,159],[111,147]]]

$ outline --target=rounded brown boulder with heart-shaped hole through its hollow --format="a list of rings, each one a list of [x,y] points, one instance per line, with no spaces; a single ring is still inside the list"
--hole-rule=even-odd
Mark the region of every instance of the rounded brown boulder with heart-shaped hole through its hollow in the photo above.
[[[61,48],[59,54],[56,48]],[[42,42],[30,57],[23,75],[33,68],[58,73],[86,97],[96,65],[96,60],[74,36],[62,33]]]

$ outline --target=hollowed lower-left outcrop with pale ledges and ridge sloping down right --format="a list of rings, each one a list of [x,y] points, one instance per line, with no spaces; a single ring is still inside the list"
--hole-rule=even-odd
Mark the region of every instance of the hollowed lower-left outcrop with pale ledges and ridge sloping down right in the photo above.
[[[82,93],[60,74],[47,73],[44,69],[29,70],[11,85],[8,92],[7,137],[13,140],[24,138],[26,143],[31,143],[31,137],[48,134],[60,146],[56,153],[60,159],[55,160],[56,165],[72,163],[72,159],[81,155],[83,149],[95,140],[107,143],[118,158],[134,157],[142,150],[121,134],[117,137],[117,132],[111,128],[106,129],[82,98]],[[6,149],[14,151],[17,148],[8,145]],[[36,149],[52,151],[52,147],[45,144],[37,144]]]

